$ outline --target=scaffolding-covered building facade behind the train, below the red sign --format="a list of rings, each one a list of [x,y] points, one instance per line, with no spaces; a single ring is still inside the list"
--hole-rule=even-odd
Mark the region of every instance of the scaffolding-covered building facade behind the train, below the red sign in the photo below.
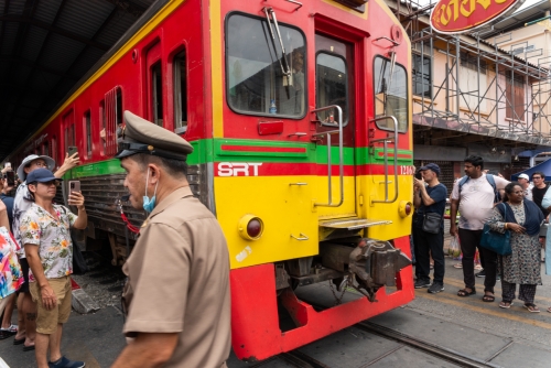
[[[413,88],[421,90],[413,99],[417,126],[453,130],[454,137],[490,137],[506,147],[551,147],[551,55],[529,41],[512,44],[512,33],[494,35],[494,26],[460,35],[437,33],[430,26],[434,0],[387,3],[418,61],[412,71]],[[503,44],[509,50],[500,48]],[[437,71],[440,78],[435,56],[439,68],[444,67],[443,75]],[[473,73],[466,75],[468,71]]]

